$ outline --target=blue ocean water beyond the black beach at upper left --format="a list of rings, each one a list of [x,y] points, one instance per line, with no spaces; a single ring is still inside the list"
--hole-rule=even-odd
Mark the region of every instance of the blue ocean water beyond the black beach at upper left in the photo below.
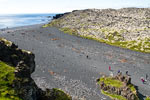
[[[56,14],[8,14],[0,15],[0,29],[47,23]]]

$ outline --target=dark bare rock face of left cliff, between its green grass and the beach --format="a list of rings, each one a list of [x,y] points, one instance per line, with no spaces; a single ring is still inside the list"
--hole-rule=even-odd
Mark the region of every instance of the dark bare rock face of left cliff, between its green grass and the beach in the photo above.
[[[16,94],[23,100],[36,100],[38,87],[31,78],[35,69],[34,54],[19,49],[10,41],[0,39],[0,60],[15,67],[12,87]]]

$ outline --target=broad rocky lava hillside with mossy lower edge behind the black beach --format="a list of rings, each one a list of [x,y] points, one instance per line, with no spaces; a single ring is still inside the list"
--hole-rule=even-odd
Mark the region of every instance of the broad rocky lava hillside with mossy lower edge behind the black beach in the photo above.
[[[150,53],[150,8],[86,9],[56,16],[49,24],[65,33]]]

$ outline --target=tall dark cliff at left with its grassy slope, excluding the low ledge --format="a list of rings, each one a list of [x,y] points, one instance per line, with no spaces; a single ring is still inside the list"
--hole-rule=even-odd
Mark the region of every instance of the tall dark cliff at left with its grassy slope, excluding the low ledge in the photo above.
[[[35,70],[34,54],[21,50],[11,41],[0,39],[0,61],[2,75],[1,80],[7,84],[0,84],[3,91],[1,97],[12,100],[36,100],[38,97],[38,87],[31,78]],[[5,81],[4,81],[5,80]],[[4,88],[8,87],[8,90]],[[17,98],[19,97],[19,98]]]

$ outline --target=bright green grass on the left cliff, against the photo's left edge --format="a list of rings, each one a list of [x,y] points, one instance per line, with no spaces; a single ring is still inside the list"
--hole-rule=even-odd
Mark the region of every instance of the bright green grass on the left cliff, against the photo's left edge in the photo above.
[[[12,88],[15,68],[0,61],[0,100],[20,100]]]

